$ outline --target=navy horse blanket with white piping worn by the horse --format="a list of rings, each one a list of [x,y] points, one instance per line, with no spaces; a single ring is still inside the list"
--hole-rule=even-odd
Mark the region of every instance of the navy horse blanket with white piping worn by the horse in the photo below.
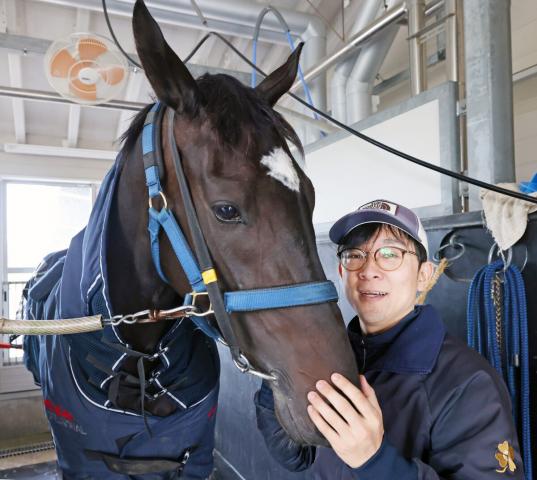
[[[106,242],[108,214],[121,171],[104,179],[87,227],[68,250],[48,255],[27,284],[25,318],[111,318]],[[207,478],[212,471],[219,361],[214,342],[178,319],[152,354],[131,349],[116,327],[26,336],[25,364],[43,391],[59,467],[65,479]],[[122,371],[128,357],[151,359],[141,385]],[[167,395],[177,410],[152,416],[117,407],[119,381],[143,395]],[[147,398],[147,397],[146,397]]]

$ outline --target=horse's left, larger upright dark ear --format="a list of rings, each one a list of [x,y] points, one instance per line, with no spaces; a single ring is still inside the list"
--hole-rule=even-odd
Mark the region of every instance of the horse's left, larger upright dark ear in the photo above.
[[[166,43],[143,0],[136,0],[132,16],[136,50],[158,99],[169,107],[194,113],[200,93],[185,64]]]

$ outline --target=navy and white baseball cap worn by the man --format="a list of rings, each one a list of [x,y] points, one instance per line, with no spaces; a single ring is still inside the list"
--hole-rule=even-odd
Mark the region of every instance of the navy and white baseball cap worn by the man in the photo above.
[[[330,229],[332,242],[340,245],[356,227],[366,223],[385,223],[399,228],[425,248],[429,255],[427,234],[418,216],[409,208],[389,200],[373,200],[341,217]]]

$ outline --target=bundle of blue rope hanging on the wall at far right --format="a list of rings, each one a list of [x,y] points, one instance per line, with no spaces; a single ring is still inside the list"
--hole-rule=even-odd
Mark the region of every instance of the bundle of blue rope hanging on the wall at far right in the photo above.
[[[500,278],[503,275],[501,345],[497,341],[492,290],[497,275]],[[524,280],[516,266],[505,268],[503,261],[497,260],[474,275],[468,292],[467,340],[470,347],[488,359],[507,384],[513,418],[522,429],[526,479],[532,480],[528,314]]]

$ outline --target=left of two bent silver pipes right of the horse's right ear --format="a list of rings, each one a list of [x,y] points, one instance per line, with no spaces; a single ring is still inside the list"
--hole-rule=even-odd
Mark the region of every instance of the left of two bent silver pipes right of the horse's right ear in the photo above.
[[[352,37],[366,28],[382,11],[382,6],[382,0],[364,0],[356,14],[356,20],[349,31],[349,36]],[[361,50],[357,51],[352,58],[338,64],[334,68],[330,80],[329,95],[332,116],[340,122],[347,121],[347,80],[360,52]]]

